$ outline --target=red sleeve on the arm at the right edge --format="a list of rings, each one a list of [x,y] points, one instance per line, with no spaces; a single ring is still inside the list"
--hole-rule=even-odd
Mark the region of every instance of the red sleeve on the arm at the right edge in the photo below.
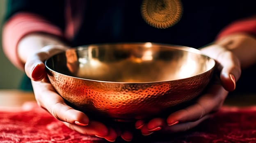
[[[256,16],[235,21],[220,31],[217,39],[233,33],[247,33],[256,37]]]

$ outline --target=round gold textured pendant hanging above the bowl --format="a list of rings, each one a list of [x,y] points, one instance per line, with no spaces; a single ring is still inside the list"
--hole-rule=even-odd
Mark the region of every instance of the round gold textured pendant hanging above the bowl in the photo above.
[[[181,19],[183,7],[180,0],[143,0],[141,13],[149,25],[163,29]]]

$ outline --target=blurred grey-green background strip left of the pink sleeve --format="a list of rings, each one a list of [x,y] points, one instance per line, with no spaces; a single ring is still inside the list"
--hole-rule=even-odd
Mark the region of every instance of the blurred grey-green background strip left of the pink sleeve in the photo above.
[[[0,27],[2,39],[2,25],[5,16],[7,0],[0,0]],[[0,89],[17,89],[20,85],[23,71],[17,69],[6,58],[2,50],[2,40],[0,41]]]

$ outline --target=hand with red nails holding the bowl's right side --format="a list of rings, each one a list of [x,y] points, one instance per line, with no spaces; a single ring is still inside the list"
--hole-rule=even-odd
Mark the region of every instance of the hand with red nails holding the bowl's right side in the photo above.
[[[185,109],[170,114],[167,119],[153,118],[149,122],[139,120],[135,127],[143,135],[152,134],[154,131],[182,132],[189,130],[210,116],[210,113],[222,107],[228,92],[235,89],[235,82],[240,78],[241,66],[238,58],[220,45],[210,45],[201,49],[205,54],[216,61],[216,68],[220,72],[216,82],[207,88],[198,100]]]

